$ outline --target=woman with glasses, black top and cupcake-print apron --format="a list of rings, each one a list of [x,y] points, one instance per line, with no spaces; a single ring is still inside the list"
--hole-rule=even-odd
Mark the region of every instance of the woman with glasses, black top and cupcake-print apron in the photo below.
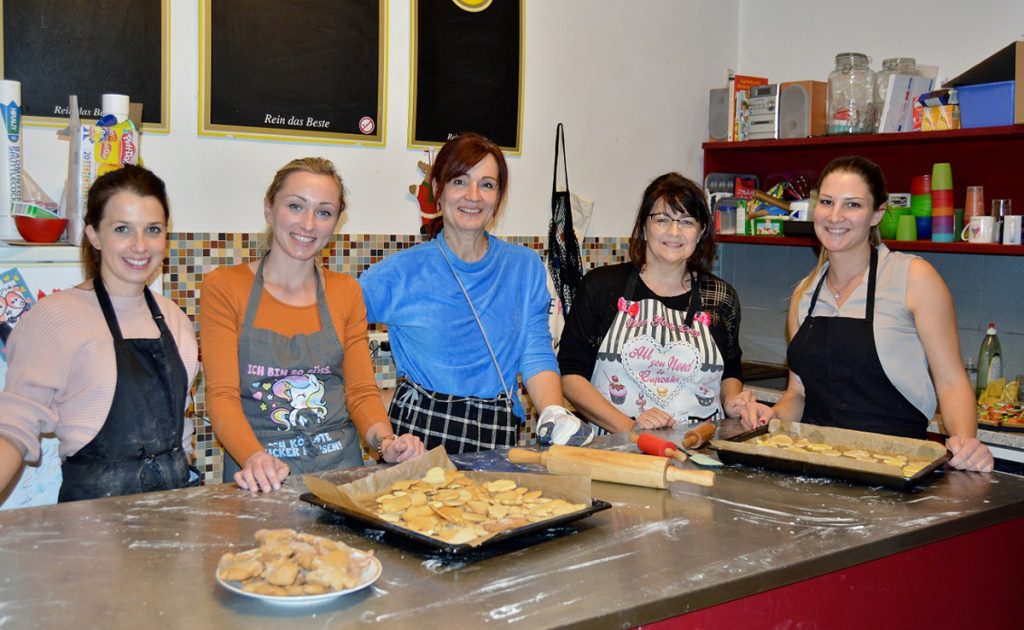
[[[607,431],[723,416],[764,424],[770,408],[744,391],[739,299],[713,276],[715,239],[700,186],[678,173],[644,191],[630,262],[583,280],[562,332],[562,390]]]

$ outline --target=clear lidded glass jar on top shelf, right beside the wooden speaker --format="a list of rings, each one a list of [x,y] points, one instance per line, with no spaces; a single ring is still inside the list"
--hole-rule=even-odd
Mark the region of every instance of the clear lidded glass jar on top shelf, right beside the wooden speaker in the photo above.
[[[828,74],[828,134],[874,131],[874,72],[860,52],[836,55]]]

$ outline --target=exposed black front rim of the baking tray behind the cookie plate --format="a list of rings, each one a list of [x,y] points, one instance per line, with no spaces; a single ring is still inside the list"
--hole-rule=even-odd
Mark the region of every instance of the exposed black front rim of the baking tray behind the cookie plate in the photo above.
[[[490,547],[498,545],[499,543],[504,543],[506,541],[513,539],[525,538],[532,534],[540,534],[552,528],[557,528],[559,526],[573,522],[575,520],[580,520],[581,518],[586,518],[587,516],[596,514],[597,512],[606,510],[611,507],[611,504],[608,503],[607,501],[601,501],[600,499],[591,499],[590,507],[585,507],[584,509],[577,512],[572,512],[570,514],[562,514],[561,516],[554,516],[547,520],[531,522],[529,524],[522,526],[521,528],[515,528],[514,530],[507,530],[505,532],[501,532],[488,538],[479,545],[470,545],[468,543],[463,543],[461,545],[453,545],[442,540],[426,536],[425,534],[420,534],[419,532],[414,532],[412,530],[407,530],[406,528],[400,528],[386,520],[368,518],[366,515],[349,510],[344,506],[335,505],[334,503],[328,503],[327,501],[324,501],[323,499],[318,498],[316,495],[312,493],[308,492],[304,493],[299,498],[305,501],[306,503],[311,503],[312,505],[324,508],[325,510],[333,514],[337,514],[346,520],[351,520],[360,528],[381,530],[387,532],[388,534],[392,534],[398,537],[399,539],[406,541],[412,541],[430,547],[433,550],[440,551],[441,553],[447,555],[463,555],[470,552],[475,553],[480,550],[486,550]]]

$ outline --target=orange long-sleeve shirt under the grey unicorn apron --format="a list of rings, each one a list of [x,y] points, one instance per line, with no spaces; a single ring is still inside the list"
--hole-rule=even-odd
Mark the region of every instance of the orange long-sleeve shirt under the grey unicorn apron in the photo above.
[[[243,464],[253,453],[263,450],[242,412],[239,383],[239,338],[255,280],[248,264],[220,267],[206,277],[200,289],[200,348],[207,413],[220,444]],[[365,436],[371,425],[387,421],[387,412],[374,378],[362,292],[355,279],[345,274],[325,269],[324,280],[328,308],[344,349],[341,370],[345,402],[356,430]],[[316,304],[292,306],[265,289],[254,326],[286,336],[321,330]]]

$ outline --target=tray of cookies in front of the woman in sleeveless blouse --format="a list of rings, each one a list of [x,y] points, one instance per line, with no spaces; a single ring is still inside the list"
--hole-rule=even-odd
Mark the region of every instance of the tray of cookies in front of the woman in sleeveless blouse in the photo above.
[[[725,464],[827,476],[903,492],[949,460],[944,446],[913,439],[773,419],[730,439],[712,440]]]

